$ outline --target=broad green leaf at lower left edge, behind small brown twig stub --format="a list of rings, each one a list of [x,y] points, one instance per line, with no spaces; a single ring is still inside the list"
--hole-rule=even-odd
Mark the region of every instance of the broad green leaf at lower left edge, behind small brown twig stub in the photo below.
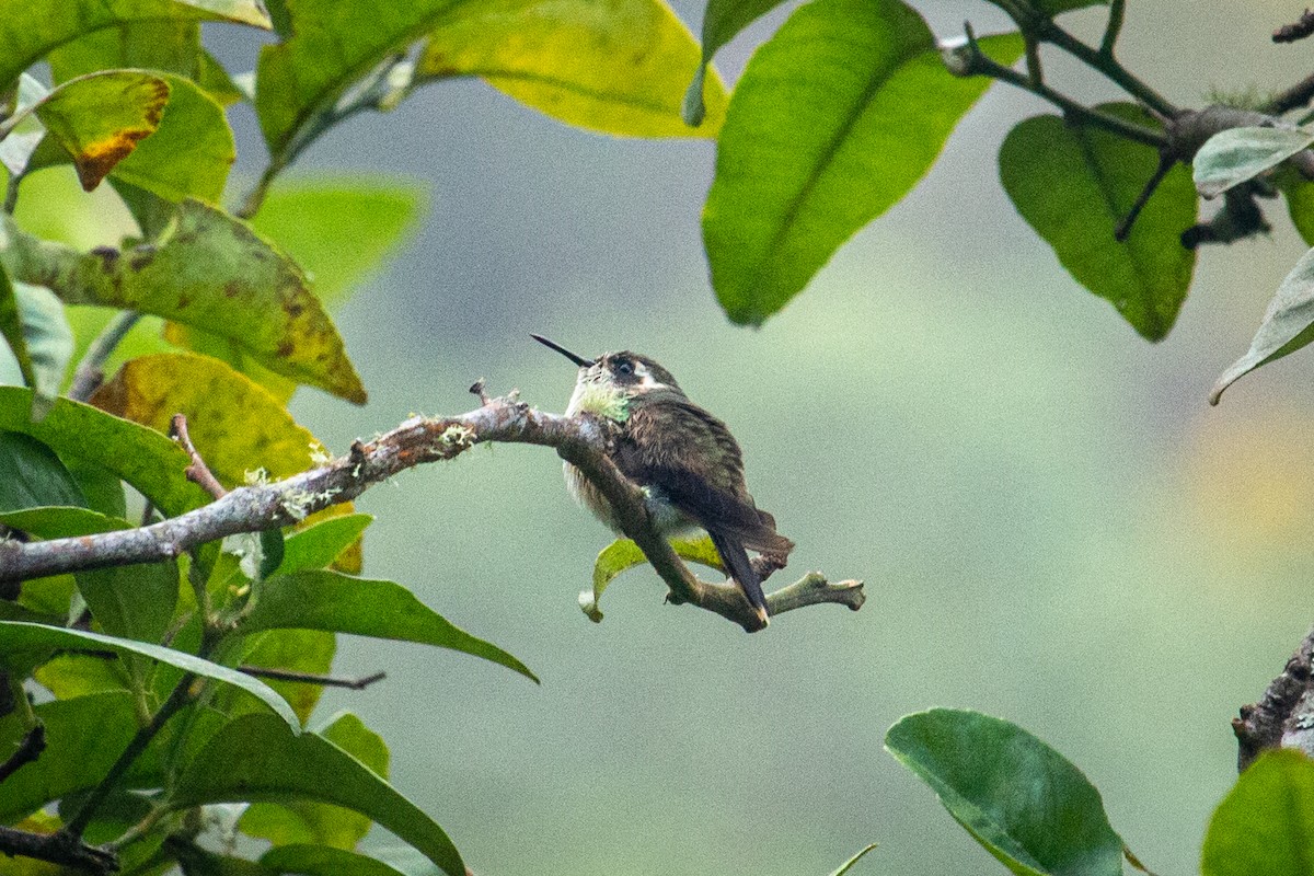
[[[13,823],[53,800],[96,787],[137,732],[133,697],[126,692],[42,703],[35,713],[46,726],[46,750],[5,779],[0,823]],[[0,742],[24,732],[17,713],[0,718]]]

